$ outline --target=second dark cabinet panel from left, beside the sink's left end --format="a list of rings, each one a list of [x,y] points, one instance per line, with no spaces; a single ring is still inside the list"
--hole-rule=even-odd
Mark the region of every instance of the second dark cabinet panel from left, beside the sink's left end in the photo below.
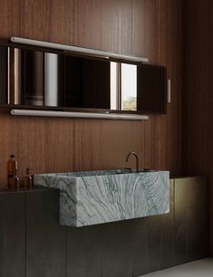
[[[26,276],[65,276],[65,228],[59,191],[26,193]]]

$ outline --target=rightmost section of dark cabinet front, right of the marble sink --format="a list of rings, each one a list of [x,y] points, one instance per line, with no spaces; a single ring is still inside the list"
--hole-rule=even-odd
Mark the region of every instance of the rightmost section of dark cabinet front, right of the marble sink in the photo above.
[[[208,256],[208,179],[175,179],[176,263]]]

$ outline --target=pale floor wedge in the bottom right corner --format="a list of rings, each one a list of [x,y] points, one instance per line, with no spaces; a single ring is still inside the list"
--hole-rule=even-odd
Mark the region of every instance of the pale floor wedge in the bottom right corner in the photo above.
[[[142,275],[144,277],[213,277],[213,258],[181,264],[159,272]],[[140,277],[142,277],[140,276]]]

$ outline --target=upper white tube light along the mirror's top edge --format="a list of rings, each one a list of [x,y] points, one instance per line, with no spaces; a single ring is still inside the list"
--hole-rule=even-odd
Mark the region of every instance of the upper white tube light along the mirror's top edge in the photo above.
[[[106,59],[115,58],[115,59],[131,61],[131,62],[149,62],[149,60],[147,58],[142,58],[142,57],[134,57],[134,56],[123,55],[123,54],[119,54],[119,53],[109,53],[106,51],[71,46],[71,45],[67,45],[67,44],[48,43],[48,42],[26,39],[26,38],[17,37],[17,36],[12,36],[11,42],[12,43],[23,43],[23,44],[40,46],[40,47],[45,47],[45,48],[58,49],[58,50],[63,50],[63,51],[71,51],[71,52],[75,52],[75,53],[98,55],[98,56],[102,56]]]

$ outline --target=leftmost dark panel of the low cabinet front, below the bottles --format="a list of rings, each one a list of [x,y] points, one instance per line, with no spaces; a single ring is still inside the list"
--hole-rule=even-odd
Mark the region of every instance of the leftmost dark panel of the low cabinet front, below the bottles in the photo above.
[[[0,194],[0,276],[25,277],[25,196]]]

